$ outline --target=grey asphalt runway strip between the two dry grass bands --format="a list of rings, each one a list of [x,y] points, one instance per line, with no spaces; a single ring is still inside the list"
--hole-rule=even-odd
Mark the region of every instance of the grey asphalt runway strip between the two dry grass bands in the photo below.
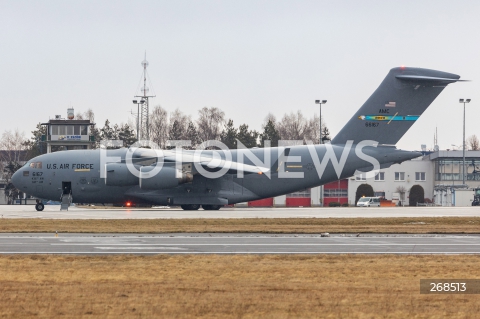
[[[2,234],[0,254],[480,254],[480,236]]]

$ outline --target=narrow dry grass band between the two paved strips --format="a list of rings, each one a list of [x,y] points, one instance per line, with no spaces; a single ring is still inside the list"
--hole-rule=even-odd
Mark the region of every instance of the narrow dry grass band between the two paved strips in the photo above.
[[[479,217],[250,219],[0,219],[0,232],[479,233]]]

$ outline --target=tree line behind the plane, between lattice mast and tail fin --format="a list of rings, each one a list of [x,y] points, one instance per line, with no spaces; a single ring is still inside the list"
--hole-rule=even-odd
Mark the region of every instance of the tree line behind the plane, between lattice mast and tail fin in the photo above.
[[[322,121],[322,133],[329,138],[328,128]],[[262,130],[251,129],[248,124],[235,125],[233,119],[227,119],[225,113],[216,107],[203,107],[198,111],[196,120],[179,109],[170,116],[161,106],[155,106],[150,116],[150,138],[160,148],[168,148],[168,140],[190,140],[191,148],[209,141],[218,140],[228,148],[237,148],[237,140],[245,147],[263,147],[263,141],[271,141],[278,146],[279,140],[308,140],[318,143],[320,121],[318,116],[305,117],[301,111],[285,114],[280,120],[268,114],[262,124]]]

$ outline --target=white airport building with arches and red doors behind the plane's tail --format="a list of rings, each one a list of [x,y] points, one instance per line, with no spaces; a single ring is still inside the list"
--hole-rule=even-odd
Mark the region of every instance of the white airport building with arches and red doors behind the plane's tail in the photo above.
[[[461,150],[425,152],[422,157],[381,169],[375,176],[361,174],[292,194],[252,201],[248,206],[314,207],[329,206],[331,202],[353,206],[357,189],[362,184],[372,186],[375,196],[402,206],[409,205],[414,185],[423,189],[427,204],[470,206],[474,188],[480,188],[480,151],[465,151],[466,186],[463,185],[462,167]]]

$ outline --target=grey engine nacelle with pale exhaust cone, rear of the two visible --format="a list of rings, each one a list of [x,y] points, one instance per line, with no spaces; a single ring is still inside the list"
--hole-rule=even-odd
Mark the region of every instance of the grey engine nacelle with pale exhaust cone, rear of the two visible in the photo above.
[[[155,166],[140,168],[139,185],[141,189],[173,188],[180,184],[190,183],[192,180],[192,174],[184,173],[171,166],[163,166],[160,171],[155,170]]]

